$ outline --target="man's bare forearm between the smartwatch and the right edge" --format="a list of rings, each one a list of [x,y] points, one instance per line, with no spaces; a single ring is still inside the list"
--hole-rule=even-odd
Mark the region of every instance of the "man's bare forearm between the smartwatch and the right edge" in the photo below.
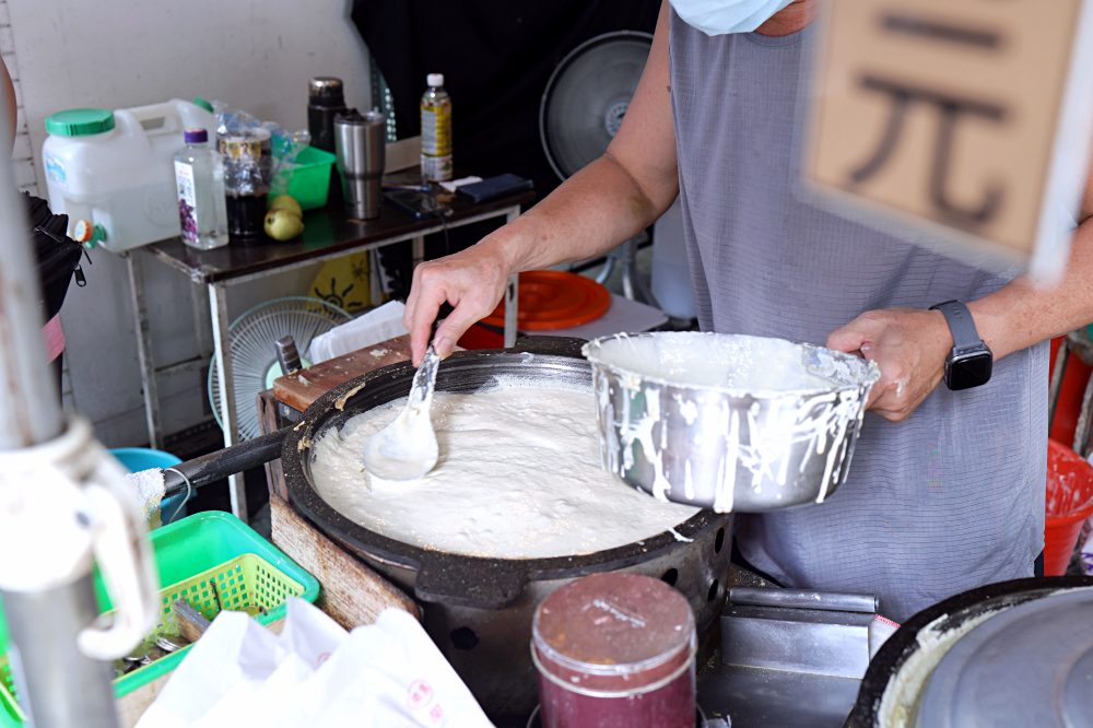
[[[1022,275],[968,308],[996,359],[1093,321],[1093,220],[1074,231],[1058,285],[1036,286]]]

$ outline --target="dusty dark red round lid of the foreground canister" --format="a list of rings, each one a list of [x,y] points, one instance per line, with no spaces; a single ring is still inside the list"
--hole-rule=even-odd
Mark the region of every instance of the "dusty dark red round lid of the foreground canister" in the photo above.
[[[592,574],[543,599],[532,620],[540,669],[595,690],[639,691],[693,660],[694,612],[639,574]]]

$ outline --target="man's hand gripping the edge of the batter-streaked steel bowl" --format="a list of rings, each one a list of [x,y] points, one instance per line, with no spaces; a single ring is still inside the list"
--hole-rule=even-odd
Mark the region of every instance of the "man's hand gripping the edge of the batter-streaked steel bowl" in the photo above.
[[[868,310],[833,331],[827,348],[877,362],[881,378],[867,407],[885,420],[901,422],[941,381],[953,340],[939,310],[885,308]]]

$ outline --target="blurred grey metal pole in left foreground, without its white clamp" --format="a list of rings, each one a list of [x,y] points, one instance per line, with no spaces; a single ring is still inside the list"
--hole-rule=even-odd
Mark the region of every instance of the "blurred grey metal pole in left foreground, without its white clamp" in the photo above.
[[[7,118],[0,113],[0,139],[8,138]],[[46,365],[38,274],[28,231],[11,162],[0,163],[0,245],[4,251],[0,257],[0,450],[45,443],[62,430],[59,392]],[[49,538],[43,533],[39,543],[27,543],[24,557],[36,549],[55,548]],[[5,590],[3,600],[12,651],[17,656],[15,676],[34,715],[33,725],[117,725],[108,666],[84,657],[75,642],[77,632],[98,613],[91,574],[39,591]]]

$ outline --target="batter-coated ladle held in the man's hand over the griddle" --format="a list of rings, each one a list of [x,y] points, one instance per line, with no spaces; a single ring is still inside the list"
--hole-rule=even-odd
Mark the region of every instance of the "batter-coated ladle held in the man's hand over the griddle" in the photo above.
[[[413,375],[407,406],[389,425],[377,432],[364,446],[364,467],[373,478],[387,481],[412,481],[424,478],[436,467],[439,448],[430,409],[433,385],[440,357],[430,345]]]

